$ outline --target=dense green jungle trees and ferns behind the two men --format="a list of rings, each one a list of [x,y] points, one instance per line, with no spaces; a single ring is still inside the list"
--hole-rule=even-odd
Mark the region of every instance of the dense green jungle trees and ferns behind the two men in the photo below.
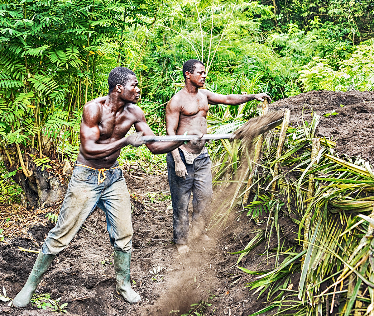
[[[76,159],[82,106],[107,93],[118,65],[137,73],[156,134],[190,58],[206,64],[207,88],[221,93],[277,100],[374,84],[371,1],[6,1],[0,24],[2,202],[22,196],[11,178],[31,204],[50,201],[35,168]],[[237,115],[225,111],[211,108],[217,124]]]

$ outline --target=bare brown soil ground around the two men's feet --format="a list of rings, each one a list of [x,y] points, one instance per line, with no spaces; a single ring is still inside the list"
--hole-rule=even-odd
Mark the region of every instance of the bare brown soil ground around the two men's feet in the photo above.
[[[172,210],[168,207],[171,201],[159,198],[156,203],[150,198],[153,192],[158,197],[169,194],[167,176],[125,177],[133,205],[131,282],[142,302],[130,305],[116,293],[113,248],[104,212],[98,208],[68,247],[56,256],[37,288],[39,293],[50,293],[53,299],[61,297],[60,305],[68,303],[67,315],[80,316],[181,315],[200,300],[212,304],[206,315],[214,310],[214,315],[249,315],[265,307],[264,299],[257,301],[258,294],[252,296],[245,287],[254,276],[237,269],[239,255],[230,254],[242,250],[253,238],[251,232],[264,227],[245,216],[239,222],[229,220],[220,230],[208,230],[208,238],[195,239],[188,253],[179,254],[172,243]],[[37,256],[20,251],[18,246],[38,250],[54,226],[44,216],[41,214],[39,223],[26,229],[27,234],[0,244],[0,286],[4,286],[10,298],[25,284]],[[239,266],[249,270],[270,268],[272,262],[262,262],[263,251],[258,246]],[[24,309],[7,304],[0,302],[0,310],[6,315],[56,315],[49,308],[37,309],[31,303]]]

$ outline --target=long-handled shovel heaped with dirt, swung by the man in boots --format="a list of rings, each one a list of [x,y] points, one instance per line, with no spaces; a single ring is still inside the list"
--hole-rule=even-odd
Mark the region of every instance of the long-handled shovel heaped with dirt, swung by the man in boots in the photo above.
[[[261,117],[251,118],[242,127],[238,128],[234,133],[229,134],[204,134],[201,138],[197,135],[168,135],[168,136],[153,136],[144,135],[140,139],[145,143],[153,142],[172,142],[172,141],[188,141],[188,140],[209,140],[209,139],[243,139],[246,138],[248,130],[251,135],[263,134],[274,127],[280,125],[283,121],[283,113],[270,112]]]

